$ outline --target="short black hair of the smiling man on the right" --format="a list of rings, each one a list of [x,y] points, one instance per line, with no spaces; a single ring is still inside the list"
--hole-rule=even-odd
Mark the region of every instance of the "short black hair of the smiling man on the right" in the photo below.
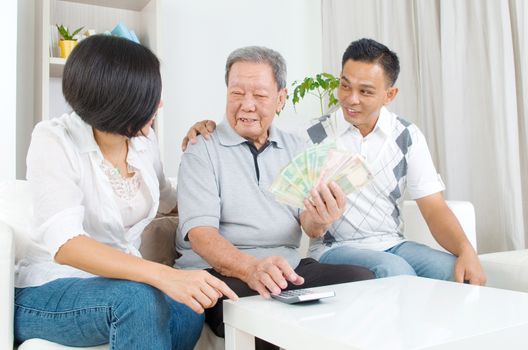
[[[341,68],[345,66],[348,60],[377,63],[387,76],[390,86],[393,86],[400,74],[400,61],[396,53],[389,48],[372,39],[359,39],[353,41],[345,50]]]

